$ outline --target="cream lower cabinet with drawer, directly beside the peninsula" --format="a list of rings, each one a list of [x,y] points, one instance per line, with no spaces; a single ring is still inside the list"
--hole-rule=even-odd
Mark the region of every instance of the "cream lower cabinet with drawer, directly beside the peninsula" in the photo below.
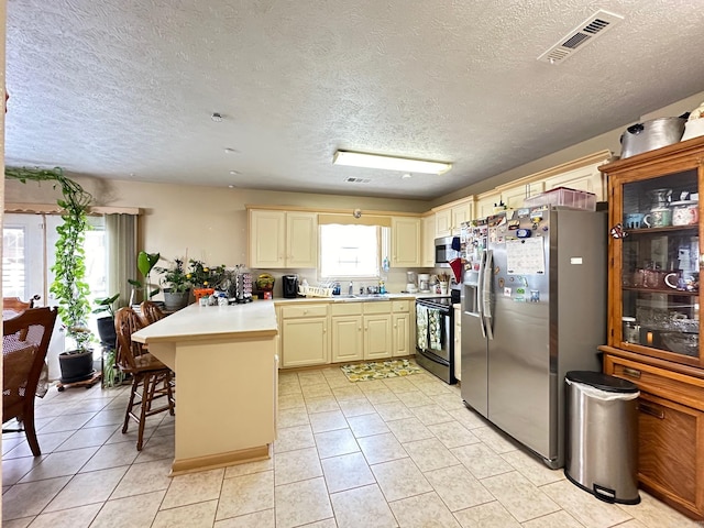
[[[328,305],[280,307],[282,366],[330,363]]]

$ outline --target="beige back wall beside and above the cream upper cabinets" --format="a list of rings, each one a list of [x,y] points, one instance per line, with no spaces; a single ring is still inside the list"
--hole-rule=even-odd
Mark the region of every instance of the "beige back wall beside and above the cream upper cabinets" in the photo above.
[[[246,263],[246,205],[422,212],[426,201],[76,178],[96,205],[142,208],[140,248],[167,258]],[[55,204],[50,184],[6,182],[7,202]]]

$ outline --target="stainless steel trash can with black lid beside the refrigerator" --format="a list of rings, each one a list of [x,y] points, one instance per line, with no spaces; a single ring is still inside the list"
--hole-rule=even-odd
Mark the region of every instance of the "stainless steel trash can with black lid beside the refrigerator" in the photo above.
[[[601,372],[565,375],[564,475],[607,503],[638,504],[638,386]]]

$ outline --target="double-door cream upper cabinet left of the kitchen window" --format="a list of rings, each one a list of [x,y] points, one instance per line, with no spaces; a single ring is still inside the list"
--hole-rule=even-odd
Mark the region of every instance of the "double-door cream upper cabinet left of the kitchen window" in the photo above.
[[[317,267],[318,215],[250,209],[250,267]]]

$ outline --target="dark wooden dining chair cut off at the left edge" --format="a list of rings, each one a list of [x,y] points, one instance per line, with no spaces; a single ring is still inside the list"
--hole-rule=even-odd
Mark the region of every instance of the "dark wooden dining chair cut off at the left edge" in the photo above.
[[[29,308],[2,326],[2,424],[12,418],[22,431],[32,454],[42,454],[34,428],[34,396],[56,322],[56,308]]]

